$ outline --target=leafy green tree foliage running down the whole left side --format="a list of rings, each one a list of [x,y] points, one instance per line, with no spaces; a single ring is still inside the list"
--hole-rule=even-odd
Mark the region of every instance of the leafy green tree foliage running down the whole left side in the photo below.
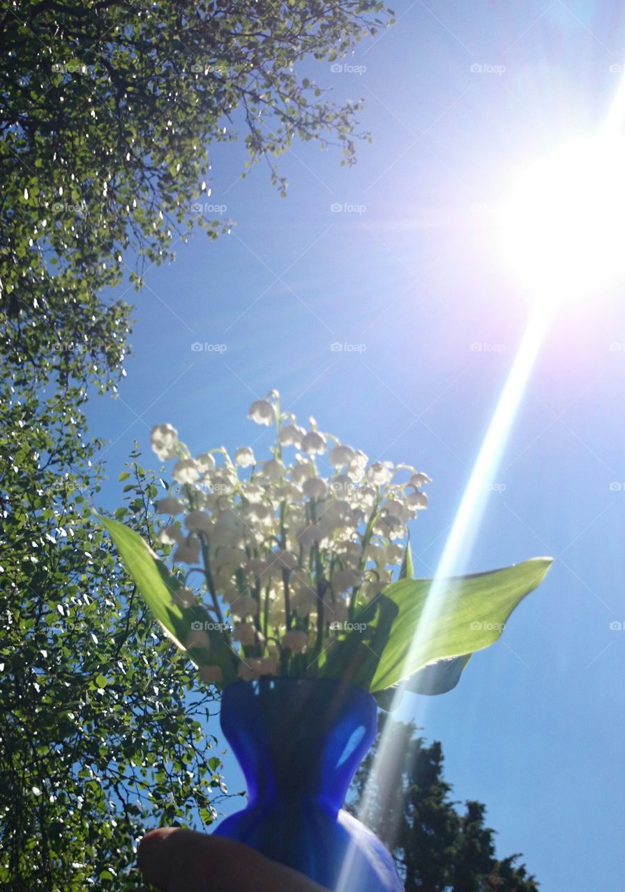
[[[116,389],[130,308],[101,293],[210,219],[208,147],[295,138],[354,161],[359,103],[298,73],[378,27],[378,2],[25,0],[0,12],[0,889],[135,888],[146,827],[224,795],[212,694],[155,633],[87,509],[87,395]],[[238,129],[238,134],[237,134]],[[245,171],[244,171],[245,172]],[[202,203],[196,200],[202,199]],[[208,213],[208,217],[205,217]],[[151,539],[132,458],[125,519]],[[207,752],[209,750],[209,752]]]

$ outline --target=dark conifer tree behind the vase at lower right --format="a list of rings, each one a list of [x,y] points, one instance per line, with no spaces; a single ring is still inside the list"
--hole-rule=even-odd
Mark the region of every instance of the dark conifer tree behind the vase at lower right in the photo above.
[[[383,784],[367,790],[387,723]],[[451,792],[440,743],[426,745],[413,723],[382,716],[354,778],[349,810],[391,850],[406,892],[537,892],[537,881],[518,863],[521,855],[496,857],[486,806],[468,801],[459,810]]]

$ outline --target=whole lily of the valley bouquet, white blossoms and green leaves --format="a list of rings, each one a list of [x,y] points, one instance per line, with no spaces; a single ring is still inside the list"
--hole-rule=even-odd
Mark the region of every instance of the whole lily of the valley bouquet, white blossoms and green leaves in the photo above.
[[[343,679],[380,702],[399,682],[430,694],[454,687],[551,559],[434,587],[412,579],[407,524],[428,506],[429,475],[370,461],[313,418],[299,425],[276,391],[248,417],[275,432],[262,460],[250,446],[193,456],[171,425],[152,431],[158,458],[173,462],[167,495],[155,502],[158,540],[184,570],[172,572],[137,533],[102,518],[200,680],[222,688],[276,675]]]

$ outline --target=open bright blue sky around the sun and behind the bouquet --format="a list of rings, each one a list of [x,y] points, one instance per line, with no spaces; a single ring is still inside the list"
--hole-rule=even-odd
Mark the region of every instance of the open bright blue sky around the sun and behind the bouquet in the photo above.
[[[306,71],[365,98],[374,142],[356,167],[294,145],[282,200],[262,166],[239,178],[243,146],[216,147],[206,202],[237,226],[215,244],[198,232],[126,294],[128,376],[89,413],[110,443],[108,504],[152,425],[171,422],[193,450],[246,445],[259,434],[248,406],[275,387],[302,420],[429,473],[412,542],[418,574],[435,571],[529,319],[491,211],[522,161],[601,123],[625,70],[625,16],[560,0],[396,12],[342,60],[358,71]],[[443,742],[455,796],[487,804],[499,854],[521,851],[544,892],[622,888],[624,383],[621,294],[560,313],[459,569],[543,554],[554,566],[456,690],[400,710]],[[230,759],[227,780],[240,787]]]

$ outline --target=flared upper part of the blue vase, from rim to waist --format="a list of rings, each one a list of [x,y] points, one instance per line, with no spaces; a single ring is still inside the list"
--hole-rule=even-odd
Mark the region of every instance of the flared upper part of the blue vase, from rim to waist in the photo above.
[[[221,727],[250,805],[315,799],[338,812],[375,737],[376,706],[371,694],[339,681],[239,681],[224,691]]]

